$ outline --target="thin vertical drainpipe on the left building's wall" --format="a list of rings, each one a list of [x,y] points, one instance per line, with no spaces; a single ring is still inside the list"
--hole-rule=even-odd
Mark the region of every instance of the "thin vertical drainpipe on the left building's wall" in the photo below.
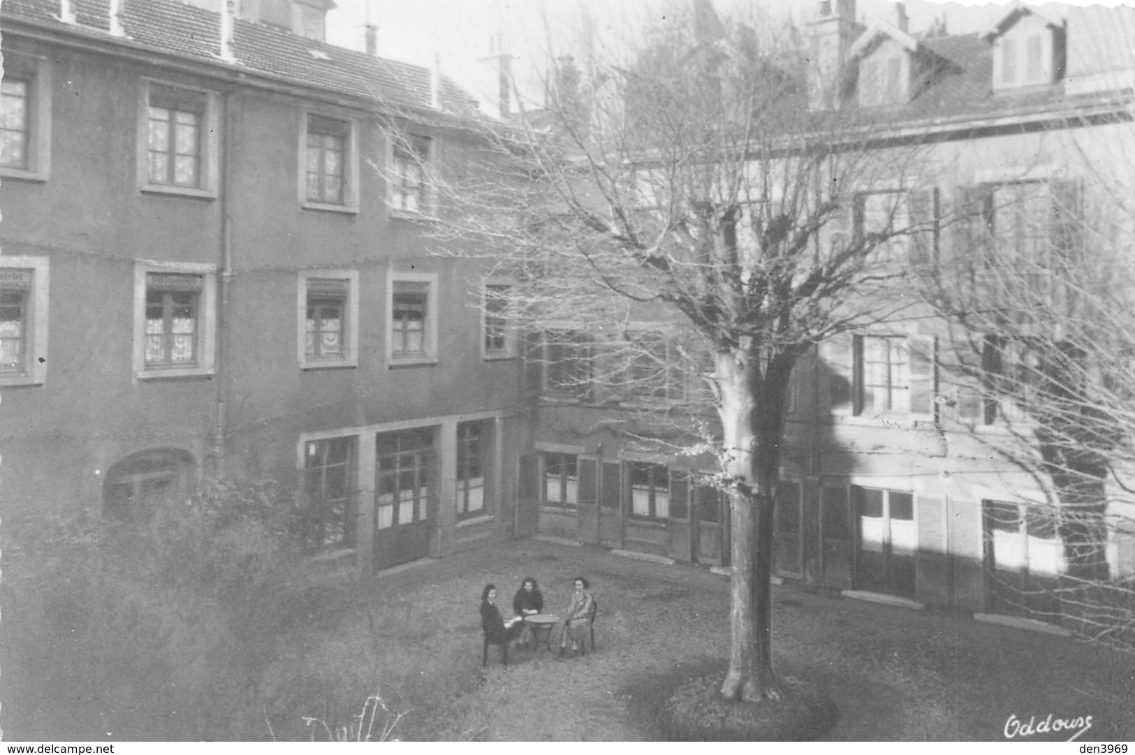
[[[233,136],[233,100],[234,92],[225,92],[221,98],[221,143],[220,143],[220,254],[217,272],[220,291],[217,302],[217,370],[213,375],[217,388],[217,411],[213,421],[213,473],[225,475],[225,428],[228,408],[228,296],[233,282],[233,237],[232,237],[232,202],[229,190],[232,182]]]

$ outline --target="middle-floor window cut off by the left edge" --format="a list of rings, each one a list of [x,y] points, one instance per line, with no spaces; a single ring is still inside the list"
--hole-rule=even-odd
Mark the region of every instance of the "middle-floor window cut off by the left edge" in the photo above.
[[[47,353],[48,259],[0,257],[0,386],[43,383]]]

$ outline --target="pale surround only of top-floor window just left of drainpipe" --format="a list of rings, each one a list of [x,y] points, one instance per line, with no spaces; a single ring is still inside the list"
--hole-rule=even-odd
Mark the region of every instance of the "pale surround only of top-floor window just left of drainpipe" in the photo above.
[[[216,92],[157,78],[143,78],[138,95],[137,183],[144,194],[190,196],[213,200],[220,186],[220,99]],[[197,133],[197,184],[153,183],[150,181],[150,100],[158,90],[180,90],[202,99],[203,112]]]

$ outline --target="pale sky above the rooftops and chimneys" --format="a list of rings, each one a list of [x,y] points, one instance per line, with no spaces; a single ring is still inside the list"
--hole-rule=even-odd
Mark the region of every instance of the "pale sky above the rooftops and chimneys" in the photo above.
[[[328,15],[328,41],[362,49],[368,6],[377,24],[378,53],[385,58],[430,67],[435,57],[442,70],[487,110],[496,102],[497,39],[513,57],[513,72],[524,89],[537,89],[538,69],[552,53],[570,47],[580,36],[580,20],[590,16],[600,36],[613,37],[633,32],[650,18],[664,17],[667,7],[683,0],[337,0],[338,8]],[[684,0],[691,2],[692,0]],[[998,12],[1007,0],[961,0],[941,2],[908,0],[911,32],[925,30],[945,16],[951,34],[972,32]],[[815,0],[713,0],[718,14],[772,18],[815,12]],[[860,20],[894,20],[893,0],[858,0]],[[1031,5],[1045,5],[1032,2]],[[1088,5],[1086,1],[1065,5]],[[1135,5],[1135,0],[1111,0],[1101,5]],[[1135,47],[1135,40],[1132,41]]]

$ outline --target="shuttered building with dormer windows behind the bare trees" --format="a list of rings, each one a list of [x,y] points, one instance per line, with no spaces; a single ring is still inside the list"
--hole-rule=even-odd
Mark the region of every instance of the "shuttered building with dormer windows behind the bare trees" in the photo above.
[[[982,33],[919,36],[901,10],[898,25],[865,28],[855,6],[819,3],[809,26],[808,107],[901,127],[926,145],[932,167],[861,195],[842,233],[907,213],[933,224],[966,207],[958,221],[910,242],[933,259],[965,258],[978,229],[995,226],[1004,238],[1049,227],[1053,207],[1083,207],[1100,166],[1135,156],[1135,57],[1121,42],[1135,31],[1130,9],[1073,10],[1065,19],[1016,5]],[[1023,235],[1015,242],[1028,248]],[[1028,475],[991,458],[986,443],[1011,441],[1004,417],[1015,408],[991,406],[940,374],[936,363],[949,361],[940,325],[911,317],[867,328],[798,366],[776,571],[923,604],[1058,610],[1043,588],[1066,568],[1059,534],[1020,503],[1044,496]],[[526,381],[541,393],[535,453],[520,467],[522,531],[722,564],[726,509],[699,477],[712,464],[644,453],[634,441],[641,427],[617,421],[627,401],[680,417],[687,388],[659,375],[645,397],[580,389],[563,362],[585,363],[586,339],[574,350],[554,341],[555,354],[532,345],[543,360],[530,360]],[[1108,560],[1112,576],[1135,574],[1135,539],[1112,532]],[[1020,592],[1007,595],[1007,586],[1040,588],[1049,604],[1020,606]]]

